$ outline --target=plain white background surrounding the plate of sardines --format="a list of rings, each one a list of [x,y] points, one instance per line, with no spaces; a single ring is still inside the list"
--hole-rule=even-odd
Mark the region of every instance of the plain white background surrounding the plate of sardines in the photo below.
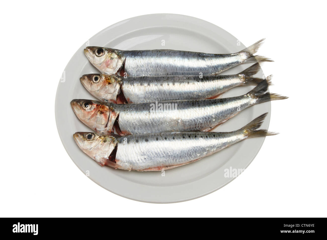
[[[250,166],[205,197],[174,204],[128,200],[70,160],[57,133],[60,75],[95,33],[126,18],[178,13],[209,21],[275,62],[267,137]],[[0,215],[326,217],[325,7],[315,1],[6,1],[1,6]]]

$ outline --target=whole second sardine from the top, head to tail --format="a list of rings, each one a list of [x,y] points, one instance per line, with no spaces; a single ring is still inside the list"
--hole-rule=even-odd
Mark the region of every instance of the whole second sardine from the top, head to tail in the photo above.
[[[211,99],[243,85],[257,85],[253,77],[260,70],[255,63],[233,75],[121,77],[99,73],[84,74],[82,85],[102,102],[146,103],[165,100]],[[268,76],[270,80],[272,75]]]

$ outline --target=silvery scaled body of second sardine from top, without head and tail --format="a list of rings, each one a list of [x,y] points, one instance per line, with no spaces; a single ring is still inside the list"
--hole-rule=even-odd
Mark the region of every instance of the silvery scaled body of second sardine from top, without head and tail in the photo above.
[[[215,76],[157,77],[155,80],[134,78],[124,81],[122,91],[130,103],[155,102],[163,100],[207,99],[243,84],[234,76],[221,79]]]

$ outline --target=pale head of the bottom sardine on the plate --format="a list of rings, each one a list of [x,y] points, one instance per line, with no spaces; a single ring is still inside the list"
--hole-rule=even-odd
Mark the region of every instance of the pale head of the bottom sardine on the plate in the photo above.
[[[77,132],[73,135],[78,147],[101,166],[104,166],[117,141],[113,136],[91,132]]]

